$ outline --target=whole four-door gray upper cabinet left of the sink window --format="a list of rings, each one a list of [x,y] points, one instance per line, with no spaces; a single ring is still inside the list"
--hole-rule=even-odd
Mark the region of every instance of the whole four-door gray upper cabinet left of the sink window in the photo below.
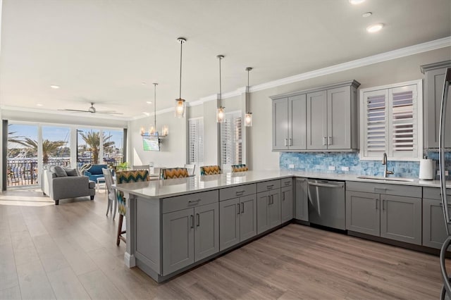
[[[357,151],[359,85],[350,80],[271,96],[273,151]]]

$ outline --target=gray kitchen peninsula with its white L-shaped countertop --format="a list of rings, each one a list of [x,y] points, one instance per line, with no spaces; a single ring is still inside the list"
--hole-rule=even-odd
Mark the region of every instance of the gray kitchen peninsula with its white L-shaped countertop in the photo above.
[[[434,180],[381,182],[358,175],[288,170],[121,184],[116,189],[128,199],[125,264],[136,265],[162,282],[290,223],[298,210],[296,178],[409,185],[420,190],[439,186]]]

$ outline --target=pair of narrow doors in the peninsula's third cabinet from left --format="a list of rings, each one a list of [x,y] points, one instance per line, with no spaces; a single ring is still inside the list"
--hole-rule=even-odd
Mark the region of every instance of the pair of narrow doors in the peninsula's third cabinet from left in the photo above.
[[[257,194],[257,235],[280,225],[280,189]]]

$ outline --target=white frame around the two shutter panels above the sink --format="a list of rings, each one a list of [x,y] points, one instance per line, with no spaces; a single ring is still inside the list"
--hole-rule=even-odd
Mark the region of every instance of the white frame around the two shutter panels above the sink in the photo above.
[[[414,126],[416,127],[416,140],[414,138],[413,144],[416,144],[416,149],[412,153],[412,156],[393,156],[393,144],[390,141],[390,133],[392,130],[392,115],[390,115],[390,89],[399,89],[406,86],[416,85],[416,101],[414,101],[414,110],[416,110],[416,120],[414,120]],[[377,92],[385,89],[388,97],[385,99],[385,127],[388,128],[385,134],[385,152],[387,153],[388,160],[390,161],[419,161],[423,156],[423,80],[411,80],[407,82],[399,82],[391,85],[382,85],[378,87],[369,87],[366,89],[360,89],[359,101],[360,101],[360,160],[362,161],[376,161],[382,159],[382,154],[378,156],[366,155],[366,100],[364,98],[365,93]]]

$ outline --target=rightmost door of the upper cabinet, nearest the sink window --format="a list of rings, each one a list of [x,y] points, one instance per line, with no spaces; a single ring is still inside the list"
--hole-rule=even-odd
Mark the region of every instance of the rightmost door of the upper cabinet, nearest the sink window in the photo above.
[[[350,87],[327,91],[328,149],[351,148],[351,92]]]

